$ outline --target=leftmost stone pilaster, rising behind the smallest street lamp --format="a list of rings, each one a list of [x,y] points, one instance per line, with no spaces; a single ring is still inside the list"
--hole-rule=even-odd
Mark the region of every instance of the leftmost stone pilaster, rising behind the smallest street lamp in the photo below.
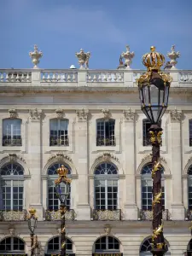
[[[29,160],[31,178],[30,207],[37,210],[39,220],[43,220],[42,192],[41,192],[41,117],[39,109],[30,110],[29,124]]]

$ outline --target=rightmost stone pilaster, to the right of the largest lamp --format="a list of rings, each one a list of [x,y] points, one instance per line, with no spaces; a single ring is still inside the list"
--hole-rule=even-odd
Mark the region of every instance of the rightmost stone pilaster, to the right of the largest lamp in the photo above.
[[[182,191],[182,111],[170,111],[172,121],[172,220],[184,219]]]

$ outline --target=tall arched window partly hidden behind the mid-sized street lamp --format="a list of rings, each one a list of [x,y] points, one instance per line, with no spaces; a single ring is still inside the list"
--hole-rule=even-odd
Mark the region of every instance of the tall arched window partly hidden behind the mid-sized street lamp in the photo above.
[[[48,168],[48,208],[50,211],[52,210],[58,210],[60,206],[60,201],[56,195],[55,190],[55,179],[58,178],[57,169],[61,167],[61,165],[65,166],[68,170],[68,175],[70,177],[71,174],[71,168],[67,166],[65,163],[55,163],[52,166],[49,166]],[[71,192],[71,187],[70,187]],[[67,210],[70,209],[71,206],[71,196],[67,197]]]

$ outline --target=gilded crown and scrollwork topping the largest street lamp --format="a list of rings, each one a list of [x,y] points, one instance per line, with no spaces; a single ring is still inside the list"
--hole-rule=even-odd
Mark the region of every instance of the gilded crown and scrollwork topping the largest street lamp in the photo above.
[[[162,67],[165,63],[164,55],[160,54],[159,52],[155,52],[154,46],[151,46],[150,50],[150,53],[143,55],[143,65],[147,67],[147,72],[143,73],[143,75],[137,79],[137,84],[139,86],[148,84],[154,70],[157,71],[160,78],[163,79],[164,84],[171,84],[172,77],[168,73],[163,73],[160,71],[160,67]]]

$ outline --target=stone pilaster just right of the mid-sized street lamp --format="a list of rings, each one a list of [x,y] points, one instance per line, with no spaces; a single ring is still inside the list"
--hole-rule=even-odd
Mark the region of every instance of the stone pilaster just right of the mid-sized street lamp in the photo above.
[[[79,201],[78,201],[78,219],[90,220],[89,189],[88,189],[88,109],[78,109],[76,111],[78,122],[77,134],[77,155],[79,156]]]

